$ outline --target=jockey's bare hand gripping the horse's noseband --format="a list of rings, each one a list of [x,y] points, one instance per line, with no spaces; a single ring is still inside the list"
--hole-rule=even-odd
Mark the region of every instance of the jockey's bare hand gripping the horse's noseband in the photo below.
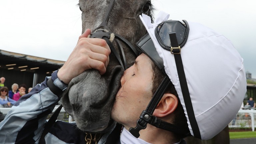
[[[101,75],[106,72],[110,48],[103,39],[87,38],[89,34],[91,30],[87,29],[79,37],[73,52],[58,71],[58,78],[66,84],[87,69],[97,69]]]

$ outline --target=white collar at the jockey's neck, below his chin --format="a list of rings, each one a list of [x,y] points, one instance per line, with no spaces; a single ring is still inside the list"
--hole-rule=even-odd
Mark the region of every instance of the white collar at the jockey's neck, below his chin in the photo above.
[[[120,142],[121,142],[121,144],[151,144],[151,143],[144,141],[143,139],[134,137],[125,128],[123,128],[123,131],[121,133]],[[180,142],[175,143],[175,144],[179,144],[179,143]]]

